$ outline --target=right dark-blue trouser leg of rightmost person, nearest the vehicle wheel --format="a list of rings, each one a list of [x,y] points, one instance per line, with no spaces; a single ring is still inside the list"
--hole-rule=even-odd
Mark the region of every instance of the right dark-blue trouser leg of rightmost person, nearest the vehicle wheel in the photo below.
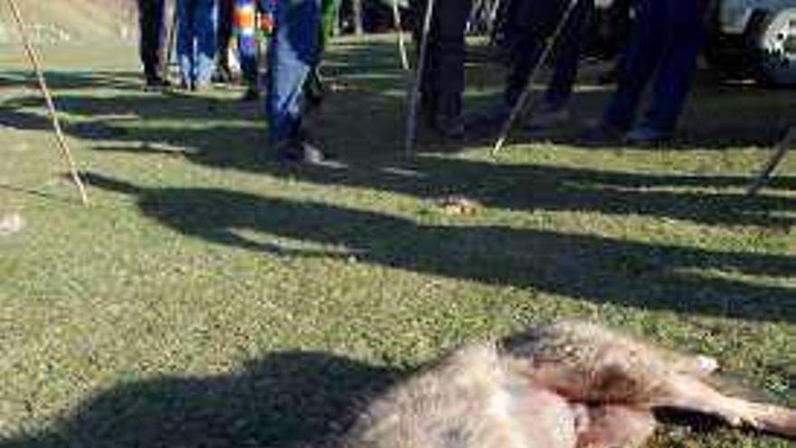
[[[668,42],[656,76],[645,125],[671,131],[686,103],[704,33],[700,0],[659,0],[668,7]]]

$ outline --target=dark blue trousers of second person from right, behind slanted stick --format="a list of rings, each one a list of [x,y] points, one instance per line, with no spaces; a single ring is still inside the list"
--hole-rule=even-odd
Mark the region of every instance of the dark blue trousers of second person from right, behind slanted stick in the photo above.
[[[555,70],[545,93],[545,104],[550,109],[564,107],[572,94],[582,43],[594,11],[594,0],[577,2],[558,38]],[[513,5],[507,24],[511,62],[504,100],[508,106],[514,106],[526,90],[528,78],[545,51],[547,39],[564,19],[568,7],[569,0],[518,0]]]

